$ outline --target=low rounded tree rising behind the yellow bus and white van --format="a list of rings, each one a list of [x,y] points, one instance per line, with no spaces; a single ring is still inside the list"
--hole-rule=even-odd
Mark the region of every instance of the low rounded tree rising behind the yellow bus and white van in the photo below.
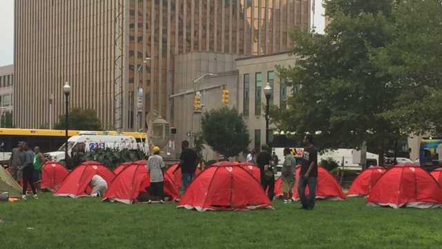
[[[56,130],[66,129],[66,116],[59,116]],[[72,130],[102,130],[102,124],[97,118],[97,112],[92,109],[73,108],[69,112],[69,129]]]

